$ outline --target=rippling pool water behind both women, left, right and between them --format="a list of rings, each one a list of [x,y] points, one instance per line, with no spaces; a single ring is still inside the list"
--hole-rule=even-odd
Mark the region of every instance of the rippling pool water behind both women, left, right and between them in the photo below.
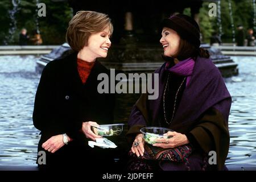
[[[0,165],[35,166],[39,131],[32,125],[39,82],[34,56],[0,56]],[[256,57],[232,57],[240,74],[226,78],[233,102],[226,164],[256,166]],[[115,122],[126,123],[139,94],[119,94]]]

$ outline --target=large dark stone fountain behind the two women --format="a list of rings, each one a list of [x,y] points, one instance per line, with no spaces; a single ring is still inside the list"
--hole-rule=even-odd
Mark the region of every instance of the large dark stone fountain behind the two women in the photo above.
[[[212,2],[212,1],[211,1]],[[199,10],[202,0],[170,1],[163,7],[157,1],[126,1],[122,5],[117,1],[109,0],[101,5],[94,1],[69,0],[69,6],[76,14],[79,10],[93,10],[109,14],[114,24],[112,38],[113,46],[109,49],[108,57],[101,62],[108,68],[114,68],[119,72],[154,72],[163,64],[160,46],[159,23],[163,18],[175,13],[183,13],[187,7],[191,9],[192,17],[199,23]],[[146,6],[147,4],[147,6]],[[122,8],[119,8],[122,7]],[[237,64],[229,56],[222,55],[221,51],[212,48],[209,44],[202,43],[201,47],[208,49],[213,63],[220,69],[223,77],[238,74]],[[70,48],[64,43],[59,48],[53,49],[48,55],[44,55],[37,61],[37,70],[57,57],[65,56]]]

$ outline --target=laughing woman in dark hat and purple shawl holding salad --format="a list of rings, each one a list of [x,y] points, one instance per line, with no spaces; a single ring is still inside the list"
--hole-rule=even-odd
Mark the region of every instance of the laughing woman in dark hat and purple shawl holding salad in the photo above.
[[[131,110],[127,137],[131,170],[222,170],[229,151],[228,117],[232,98],[218,68],[200,48],[200,29],[183,14],[164,19],[164,49],[159,97],[142,94]],[[154,81],[153,81],[154,84]],[[140,129],[160,126],[174,130],[153,145]]]

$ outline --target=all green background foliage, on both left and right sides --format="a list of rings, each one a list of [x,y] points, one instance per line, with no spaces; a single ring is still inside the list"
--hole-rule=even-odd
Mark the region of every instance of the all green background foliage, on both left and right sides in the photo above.
[[[16,30],[13,35],[9,34],[9,30],[13,26],[10,18],[13,4],[10,0],[0,1],[0,44],[3,44],[5,40],[9,41],[9,44],[18,44],[19,32],[23,27],[27,29],[28,34],[32,35],[32,32],[36,29],[36,18],[38,19],[43,44],[61,44],[65,42],[65,32],[68,22],[72,18],[72,9],[68,6],[67,1],[38,1],[46,4],[46,17],[38,17],[36,0],[20,0],[18,11],[15,14]],[[221,0],[221,38],[225,42],[232,42],[233,32],[228,2],[229,0]],[[208,43],[213,32],[219,29],[217,27],[217,17],[208,15],[209,3],[209,1],[203,3],[199,14],[203,42]],[[186,8],[183,13],[191,15],[191,10]],[[232,13],[235,31],[238,24],[241,24],[245,31],[248,28],[254,28],[253,0],[232,0]]]

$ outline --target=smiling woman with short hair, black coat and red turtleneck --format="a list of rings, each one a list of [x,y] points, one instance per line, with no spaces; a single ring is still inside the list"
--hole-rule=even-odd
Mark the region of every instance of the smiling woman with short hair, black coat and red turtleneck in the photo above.
[[[112,33],[106,14],[79,11],[69,22],[66,39],[73,53],[46,65],[36,92],[33,122],[41,131],[38,151],[46,152],[46,165],[38,158],[39,167],[92,165],[103,156],[108,165],[113,162],[108,149],[101,155],[88,147],[88,140],[100,138],[90,126],[113,122],[113,94],[97,92],[98,74],[110,74],[97,58],[108,55]]]

